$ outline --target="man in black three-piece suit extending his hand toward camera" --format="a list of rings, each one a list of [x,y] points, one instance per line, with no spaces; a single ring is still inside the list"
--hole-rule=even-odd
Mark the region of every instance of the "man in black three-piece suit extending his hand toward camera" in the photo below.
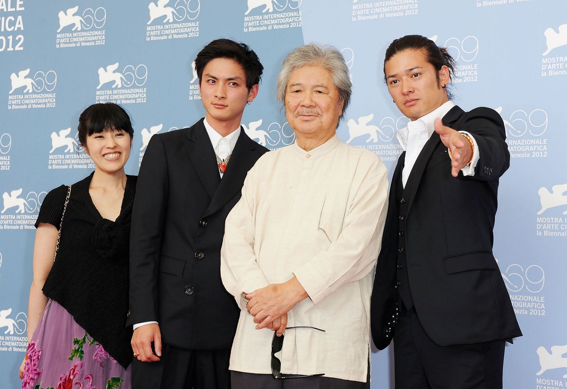
[[[386,50],[384,79],[411,122],[396,134],[371,301],[374,343],[393,337],[396,388],[502,388],[505,341],[522,332],[492,254],[503,121],[447,92],[455,61],[420,35]]]

